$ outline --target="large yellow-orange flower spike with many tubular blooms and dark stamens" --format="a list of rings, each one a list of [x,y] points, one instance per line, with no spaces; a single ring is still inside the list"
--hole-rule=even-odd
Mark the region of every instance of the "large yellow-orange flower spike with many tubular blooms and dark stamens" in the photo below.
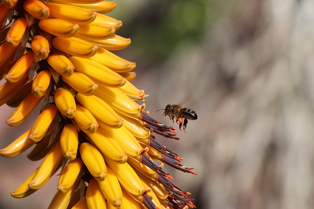
[[[42,107],[29,130],[0,149],[8,158],[33,147],[27,158],[42,161],[11,196],[26,197],[54,176],[49,208],[195,208],[162,170],[166,163],[196,174],[156,138],[179,139],[175,129],[135,102],[146,97],[131,84],[135,63],[111,52],[131,43],[115,34],[122,22],[104,15],[115,6],[0,1],[0,106],[16,108],[6,123],[17,126]]]

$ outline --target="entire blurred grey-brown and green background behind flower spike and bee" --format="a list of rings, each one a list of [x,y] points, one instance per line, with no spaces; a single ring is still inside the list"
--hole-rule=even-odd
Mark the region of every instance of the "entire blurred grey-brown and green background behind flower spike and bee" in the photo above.
[[[146,110],[180,138],[157,139],[198,173],[165,165],[198,209],[314,208],[313,0],[120,0],[109,15],[132,40],[116,53],[137,63]],[[182,102],[198,114],[187,133],[155,112]],[[1,148],[28,128],[4,123],[12,111],[0,108]],[[47,208],[57,178],[16,200],[40,162],[0,163],[0,208]]]

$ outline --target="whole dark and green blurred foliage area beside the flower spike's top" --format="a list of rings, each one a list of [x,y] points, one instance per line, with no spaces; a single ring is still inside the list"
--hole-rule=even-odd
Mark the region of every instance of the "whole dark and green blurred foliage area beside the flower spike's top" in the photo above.
[[[184,42],[198,42],[217,17],[214,0],[117,1],[110,16],[122,20],[116,33],[131,38],[138,56],[159,60]]]

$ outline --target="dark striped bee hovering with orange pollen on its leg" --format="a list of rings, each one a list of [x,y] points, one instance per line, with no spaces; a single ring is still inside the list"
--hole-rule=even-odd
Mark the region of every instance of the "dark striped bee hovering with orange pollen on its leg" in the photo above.
[[[183,108],[180,105],[170,105],[168,104],[165,109],[160,109],[160,110],[164,110],[162,115],[165,116],[169,116],[170,119],[174,121],[174,118],[176,118],[176,122],[178,124],[179,122],[179,129],[181,130],[182,127],[182,123],[183,123],[183,131],[186,133],[185,129],[186,129],[186,124],[187,124],[187,119],[190,120],[196,120],[197,119],[197,115],[196,113],[188,108]],[[157,110],[159,111],[159,110]],[[184,122],[183,122],[183,118],[184,118]]]

